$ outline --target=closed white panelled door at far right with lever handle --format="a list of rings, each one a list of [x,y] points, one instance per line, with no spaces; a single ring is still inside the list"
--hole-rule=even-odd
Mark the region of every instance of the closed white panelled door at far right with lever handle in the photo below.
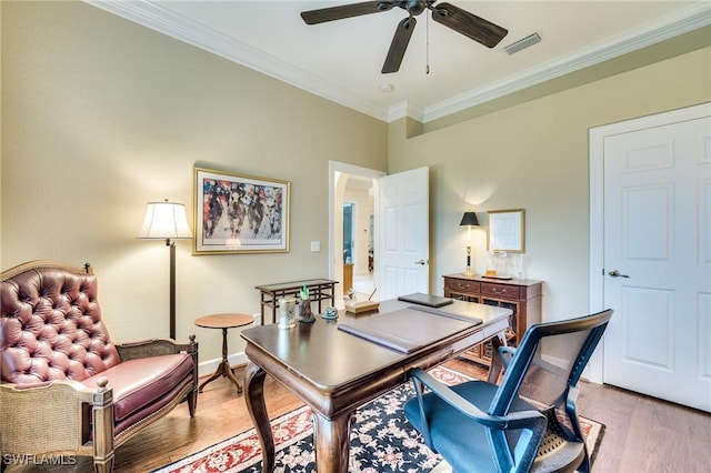
[[[603,381],[711,411],[711,118],[603,150]]]

